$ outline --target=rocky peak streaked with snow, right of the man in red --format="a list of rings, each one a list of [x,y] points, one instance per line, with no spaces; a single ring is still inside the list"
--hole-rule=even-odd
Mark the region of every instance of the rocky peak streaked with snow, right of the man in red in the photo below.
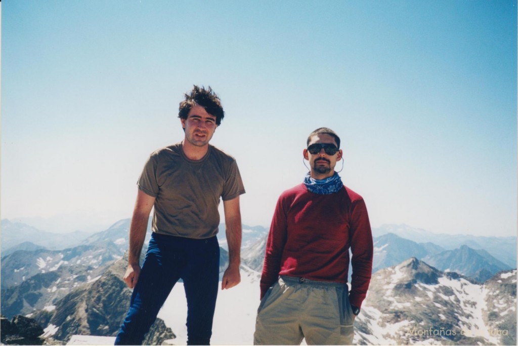
[[[410,258],[373,274],[355,324],[359,344],[514,345],[516,270],[478,284]]]

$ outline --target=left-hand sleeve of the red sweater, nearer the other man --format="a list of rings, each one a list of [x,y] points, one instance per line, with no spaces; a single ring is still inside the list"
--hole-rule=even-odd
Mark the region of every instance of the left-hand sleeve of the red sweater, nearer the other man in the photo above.
[[[261,299],[263,299],[268,288],[279,278],[282,251],[285,243],[286,213],[281,196],[275,207],[274,217],[271,220],[270,232],[266,242],[263,273],[261,274]]]

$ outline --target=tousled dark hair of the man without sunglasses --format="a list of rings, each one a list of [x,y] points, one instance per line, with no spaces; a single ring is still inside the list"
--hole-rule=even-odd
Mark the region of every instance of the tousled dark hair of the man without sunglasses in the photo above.
[[[205,108],[206,112],[216,117],[216,124],[219,125],[225,116],[223,106],[219,96],[208,87],[198,87],[195,85],[190,93],[185,93],[185,100],[180,102],[178,117],[187,119],[191,108],[197,104]]]

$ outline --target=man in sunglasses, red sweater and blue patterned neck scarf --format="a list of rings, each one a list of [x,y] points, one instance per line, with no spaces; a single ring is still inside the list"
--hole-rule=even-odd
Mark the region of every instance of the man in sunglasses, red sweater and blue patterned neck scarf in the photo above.
[[[335,172],[342,160],[339,147],[333,130],[313,131],[303,151],[310,164],[304,182],[279,197],[266,244],[254,344],[353,341],[373,246],[364,200]]]

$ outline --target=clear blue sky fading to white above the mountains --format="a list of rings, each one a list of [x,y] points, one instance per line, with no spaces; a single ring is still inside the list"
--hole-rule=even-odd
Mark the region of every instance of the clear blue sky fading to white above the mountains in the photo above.
[[[515,235],[516,75],[516,1],[3,1],[2,218],[130,217],[197,84],[243,223],[269,225],[327,126],[373,227]]]

